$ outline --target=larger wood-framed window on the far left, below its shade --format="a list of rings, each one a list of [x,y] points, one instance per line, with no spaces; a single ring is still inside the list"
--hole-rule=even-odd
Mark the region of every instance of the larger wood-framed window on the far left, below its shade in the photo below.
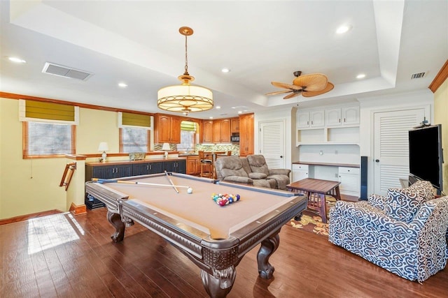
[[[23,158],[57,157],[76,153],[76,126],[23,122]]]

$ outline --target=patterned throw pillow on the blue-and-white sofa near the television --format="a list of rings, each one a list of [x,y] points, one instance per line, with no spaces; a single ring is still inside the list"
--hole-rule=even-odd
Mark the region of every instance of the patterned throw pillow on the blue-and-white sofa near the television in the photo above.
[[[417,181],[407,188],[389,188],[386,214],[398,221],[410,223],[421,204],[433,198],[433,186],[428,181]]]

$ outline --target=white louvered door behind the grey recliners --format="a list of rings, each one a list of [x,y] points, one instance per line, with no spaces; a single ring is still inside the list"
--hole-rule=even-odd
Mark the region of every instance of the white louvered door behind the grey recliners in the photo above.
[[[260,154],[265,156],[269,168],[286,167],[284,131],[284,121],[260,122]]]

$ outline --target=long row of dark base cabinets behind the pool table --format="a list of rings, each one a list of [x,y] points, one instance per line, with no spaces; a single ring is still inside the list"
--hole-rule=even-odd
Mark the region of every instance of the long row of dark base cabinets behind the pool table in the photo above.
[[[146,174],[158,174],[164,171],[178,172],[186,174],[187,163],[186,160],[176,161],[154,161],[154,162],[137,162],[126,164],[101,165],[93,163],[92,165],[85,165],[85,181],[90,181],[92,178],[113,179]],[[89,209],[104,207],[104,203],[93,198],[85,196],[85,205]]]

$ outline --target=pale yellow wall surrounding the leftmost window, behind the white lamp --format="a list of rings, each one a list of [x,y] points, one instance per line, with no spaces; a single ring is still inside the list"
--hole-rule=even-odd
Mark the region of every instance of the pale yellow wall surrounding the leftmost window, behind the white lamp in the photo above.
[[[67,211],[66,192],[59,183],[66,158],[22,159],[19,100],[0,98],[0,219],[40,211]],[[76,153],[98,154],[99,142],[118,152],[117,113],[80,109]]]

